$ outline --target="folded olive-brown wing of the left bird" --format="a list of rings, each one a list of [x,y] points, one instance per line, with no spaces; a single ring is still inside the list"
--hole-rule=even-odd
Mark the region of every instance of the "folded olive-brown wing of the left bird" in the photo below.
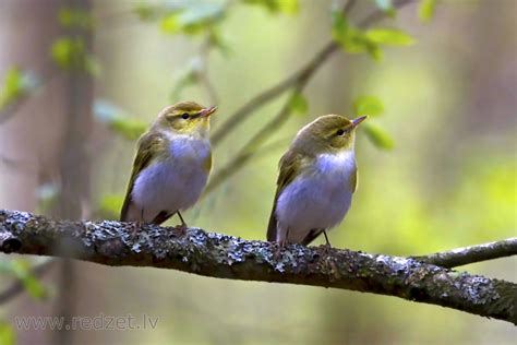
[[[136,154],[133,163],[133,171],[128,183],[124,203],[120,211],[120,221],[124,222],[128,217],[129,206],[131,204],[131,193],[139,174],[149,166],[157,154],[166,147],[166,139],[160,133],[146,133],[141,136],[137,144]]]

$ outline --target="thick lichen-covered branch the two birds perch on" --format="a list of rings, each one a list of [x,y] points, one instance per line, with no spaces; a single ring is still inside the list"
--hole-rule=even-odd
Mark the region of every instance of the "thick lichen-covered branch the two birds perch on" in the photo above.
[[[199,228],[115,221],[55,221],[0,211],[0,252],[74,258],[100,264],[154,266],[199,275],[334,287],[453,308],[517,324],[517,285],[411,258],[324,247],[249,241]]]

